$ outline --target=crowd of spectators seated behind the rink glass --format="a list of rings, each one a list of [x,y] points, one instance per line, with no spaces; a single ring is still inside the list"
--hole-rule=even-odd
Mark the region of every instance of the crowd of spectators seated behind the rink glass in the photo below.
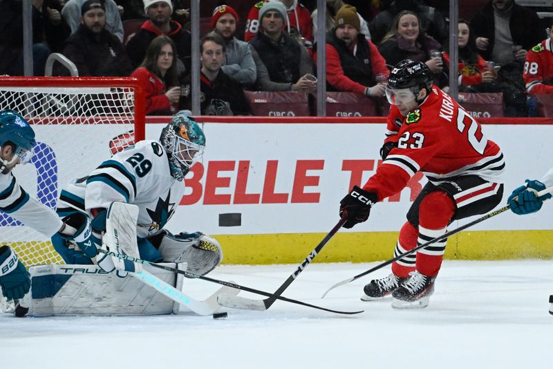
[[[209,33],[193,40],[181,0],[32,0],[35,75],[44,75],[50,53],[62,53],[79,76],[137,78],[147,114],[174,114],[191,105],[191,44],[199,42],[202,114],[252,114],[245,91],[315,93],[317,2],[250,1],[247,12],[234,3],[218,1],[209,10]],[[458,22],[459,89],[502,93],[505,115],[534,116],[536,95],[553,93],[553,33],[516,0],[480,3],[470,20]],[[447,7],[435,6],[326,0],[327,91],[384,100],[389,70],[403,59],[426,63],[447,91]],[[21,0],[0,0],[0,74],[23,75],[22,13]],[[122,19],[136,18],[143,19],[140,29],[125,35]]]

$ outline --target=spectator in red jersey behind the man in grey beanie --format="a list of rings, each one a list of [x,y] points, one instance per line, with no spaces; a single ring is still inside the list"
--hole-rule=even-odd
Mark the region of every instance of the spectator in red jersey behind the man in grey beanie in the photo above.
[[[259,20],[259,10],[269,1],[280,1],[283,3],[288,18],[288,21],[286,22],[286,25],[288,26],[288,35],[294,39],[297,39],[297,41],[301,42],[303,46],[311,47],[313,42],[311,13],[305,6],[299,4],[297,0],[263,0],[252,6],[252,9],[247,14],[246,30],[244,35],[245,41],[250,41],[257,34],[259,26],[261,26],[261,21]]]

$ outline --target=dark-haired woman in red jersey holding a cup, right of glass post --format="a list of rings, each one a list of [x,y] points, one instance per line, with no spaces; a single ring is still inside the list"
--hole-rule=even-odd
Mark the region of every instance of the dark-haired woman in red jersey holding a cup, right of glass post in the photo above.
[[[493,65],[487,62],[476,53],[474,37],[471,37],[469,22],[459,19],[458,23],[458,46],[459,46],[459,89],[466,92],[478,92],[478,85],[494,82],[497,73]],[[446,48],[449,50],[449,48]],[[449,53],[443,53],[446,68],[449,70]],[[445,82],[447,84],[447,82]],[[484,92],[484,91],[480,91]],[[491,92],[491,91],[490,91]]]

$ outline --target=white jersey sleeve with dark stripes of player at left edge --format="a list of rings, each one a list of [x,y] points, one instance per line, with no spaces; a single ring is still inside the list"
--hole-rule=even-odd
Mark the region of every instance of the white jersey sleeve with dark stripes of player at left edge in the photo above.
[[[48,237],[62,228],[54,210],[30,197],[11,173],[0,174],[0,210]]]

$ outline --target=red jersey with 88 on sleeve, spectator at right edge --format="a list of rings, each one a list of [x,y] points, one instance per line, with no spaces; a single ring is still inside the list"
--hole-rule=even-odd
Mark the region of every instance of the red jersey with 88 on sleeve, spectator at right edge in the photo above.
[[[551,39],[544,39],[526,55],[523,72],[526,91],[532,95],[553,93],[553,51]]]

